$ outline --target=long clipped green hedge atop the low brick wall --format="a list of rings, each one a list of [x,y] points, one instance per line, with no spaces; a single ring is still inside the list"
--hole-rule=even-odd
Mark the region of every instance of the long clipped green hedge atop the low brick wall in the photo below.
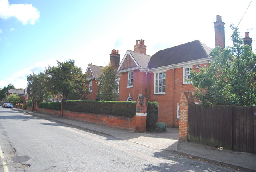
[[[68,100],[63,102],[64,110],[116,116],[134,117],[135,102]]]

